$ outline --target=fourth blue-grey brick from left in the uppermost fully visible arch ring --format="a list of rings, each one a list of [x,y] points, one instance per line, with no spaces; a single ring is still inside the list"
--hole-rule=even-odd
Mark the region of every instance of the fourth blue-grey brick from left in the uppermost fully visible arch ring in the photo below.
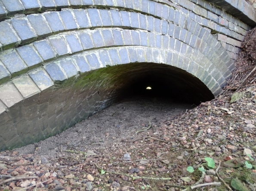
[[[58,12],[45,12],[43,15],[45,16],[53,33],[65,30],[65,26],[63,25]]]

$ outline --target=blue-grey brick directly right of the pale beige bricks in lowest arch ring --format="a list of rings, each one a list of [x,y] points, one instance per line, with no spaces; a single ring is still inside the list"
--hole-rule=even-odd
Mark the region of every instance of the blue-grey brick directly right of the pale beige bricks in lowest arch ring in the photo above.
[[[28,73],[28,75],[33,79],[34,83],[41,91],[53,86],[53,81],[44,69],[34,70]]]

